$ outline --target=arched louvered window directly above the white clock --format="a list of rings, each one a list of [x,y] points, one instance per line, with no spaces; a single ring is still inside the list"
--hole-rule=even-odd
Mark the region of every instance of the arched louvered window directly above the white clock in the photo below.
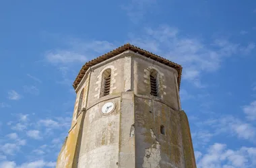
[[[106,69],[102,73],[102,93],[101,96],[109,95],[111,82],[111,69]]]

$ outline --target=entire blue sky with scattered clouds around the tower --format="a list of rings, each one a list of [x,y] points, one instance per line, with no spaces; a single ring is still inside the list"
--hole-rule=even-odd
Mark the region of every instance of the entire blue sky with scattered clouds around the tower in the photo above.
[[[197,167],[256,167],[256,1],[1,1],[0,168],[54,167],[82,65],[127,42],[183,65]]]

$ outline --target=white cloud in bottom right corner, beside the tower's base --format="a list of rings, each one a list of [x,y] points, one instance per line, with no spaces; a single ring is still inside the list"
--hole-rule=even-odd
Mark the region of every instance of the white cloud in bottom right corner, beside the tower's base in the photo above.
[[[225,168],[225,167],[255,167],[256,148],[242,147],[237,151],[227,149],[226,144],[215,143],[209,147],[207,153],[197,152],[198,168]]]

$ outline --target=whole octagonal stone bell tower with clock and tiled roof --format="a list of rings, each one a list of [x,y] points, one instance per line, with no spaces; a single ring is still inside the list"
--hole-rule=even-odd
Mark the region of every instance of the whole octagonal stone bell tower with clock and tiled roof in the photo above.
[[[87,62],[57,167],[196,167],[181,71],[131,44]]]

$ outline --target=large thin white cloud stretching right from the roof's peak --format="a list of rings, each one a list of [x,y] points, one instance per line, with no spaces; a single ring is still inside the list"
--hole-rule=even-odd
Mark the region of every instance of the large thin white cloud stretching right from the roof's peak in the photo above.
[[[129,36],[132,44],[181,64],[184,67],[183,79],[196,87],[205,87],[200,77],[203,73],[217,71],[224,58],[249,54],[255,48],[254,43],[242,46],[223,39],[205,42],[200,38],[182,36],[180,32],[177,28],[162,25]]]

